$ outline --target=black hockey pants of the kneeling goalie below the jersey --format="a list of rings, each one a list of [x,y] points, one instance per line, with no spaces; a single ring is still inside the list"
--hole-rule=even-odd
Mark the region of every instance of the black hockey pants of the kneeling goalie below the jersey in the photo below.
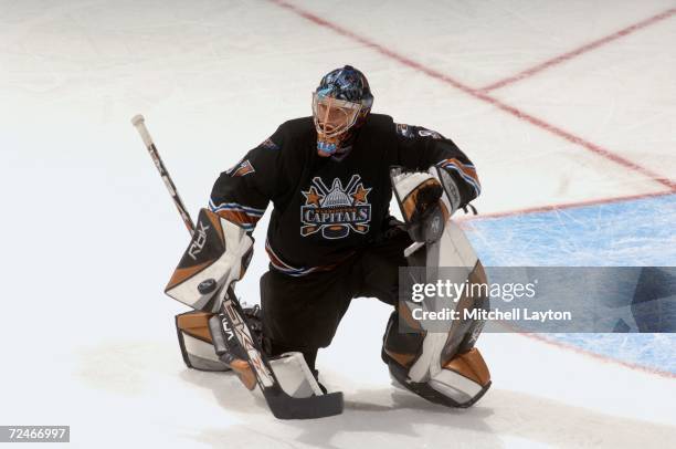
[[[294,278],[268,271],[261,278],[266,352],[297,351],[314,369],[317,349],[327,347],[353,297],[374,296],[397,305],[399,267],[405,267],[408,233],[360,250],[331,271]]]

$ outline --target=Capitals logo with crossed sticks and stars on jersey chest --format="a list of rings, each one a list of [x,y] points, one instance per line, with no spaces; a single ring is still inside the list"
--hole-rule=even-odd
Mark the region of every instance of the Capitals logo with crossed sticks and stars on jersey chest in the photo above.
[[[371,205],[367,201],[370,191],[359,175],[352,175],[346,187],[336,178],[330,188],[315,177],[309,189],[303,191],[300,236],[321,232],[321,237],[332,240],[346,238],[350,231],[367,233],[371,221]]]

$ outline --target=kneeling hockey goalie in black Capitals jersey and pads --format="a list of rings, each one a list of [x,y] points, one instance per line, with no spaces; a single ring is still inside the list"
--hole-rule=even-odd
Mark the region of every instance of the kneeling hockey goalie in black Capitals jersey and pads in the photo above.
[[[393,309],[381,325],[382,359],[395,384],[450,407],[468,407],[488,389],[488,368],[474,346],[483,323],[429,332],[399,293],[400,267],[461,267],[461,282],[486,282],[452,220],[480,192],[476,170],[451,139],[370,113],[372,103],[360,71],[334,70],[313,93],[310,117],[282,124],[216,179],[166,289],[193,309],[176,320],[189,367],[232,370],[255,387],[251,361],[219,323],[215,293],[244,275],[251,234],[272,202],[261,306],[244,313],[288,395],[326,393],[317,352],[359,296]],[[403,221],[390,215],[393,194]],[[457,306],[487,309],[488,299]]]

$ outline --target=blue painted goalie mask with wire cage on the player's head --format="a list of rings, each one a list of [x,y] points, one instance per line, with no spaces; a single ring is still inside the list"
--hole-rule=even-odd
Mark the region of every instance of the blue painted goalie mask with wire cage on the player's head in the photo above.
[[[347,147],[372,104],[369,82],[357,69],[346,65],[324,76],[313,93],[319,156],[331,156]]]

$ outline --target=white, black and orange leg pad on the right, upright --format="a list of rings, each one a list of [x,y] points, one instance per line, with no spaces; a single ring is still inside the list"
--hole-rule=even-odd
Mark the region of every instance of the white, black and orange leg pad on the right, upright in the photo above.
[[[454,283],[487,284],[484,268],[462,229],[446,222],[441,239],[415,248],[408,255],[410,267],[426,267],[431,275],[440,267],[455,267],[447,273]],[[426,282],[426,280],[425,280]],[[488,309],[488,296],[464,294],[455,303],[462,313],[469,309]],[[443,302],[442,302],[443,304]],[[404,388],[433,403],[451,407],[469,407],[490,387],[490,375],[484,359],[474,348],[483,330],[480,320],[455,320],[446,331],[429,332],[416,322],[410,303],[399,303],[383,337],[382,359],[393,379]],[[399,323],[401,315],[401,323]]]

